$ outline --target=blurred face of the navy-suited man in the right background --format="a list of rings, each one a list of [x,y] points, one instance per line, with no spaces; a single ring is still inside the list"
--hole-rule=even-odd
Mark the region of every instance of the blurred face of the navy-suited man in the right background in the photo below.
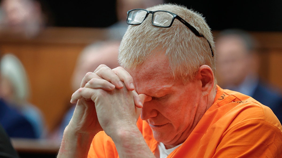
[[[253,69],[253,54],[236,36],[216,40],[217,79],[221,87],[237,86]]]

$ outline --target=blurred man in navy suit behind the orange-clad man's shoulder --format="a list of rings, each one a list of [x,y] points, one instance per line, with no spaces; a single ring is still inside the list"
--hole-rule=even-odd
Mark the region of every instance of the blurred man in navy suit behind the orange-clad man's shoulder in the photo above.
[[[258,43],[254,37],[241,29],[226,29],[217,35],[215,45],[219,85],[270,107],[282,122],[282,96],[274,85],[259,76]]]

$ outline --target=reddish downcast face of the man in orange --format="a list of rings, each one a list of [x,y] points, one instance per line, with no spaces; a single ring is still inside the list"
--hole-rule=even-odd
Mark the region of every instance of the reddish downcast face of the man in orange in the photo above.
[[[168,60],[156,55],[144,64],[129,70],[138,94],[152,97],[144,103],[141,119],[149,123],[154,138],[165,145],[178,145],[189,136],[206,105],[200,105],[199,81],[183,84],[169,73]]]

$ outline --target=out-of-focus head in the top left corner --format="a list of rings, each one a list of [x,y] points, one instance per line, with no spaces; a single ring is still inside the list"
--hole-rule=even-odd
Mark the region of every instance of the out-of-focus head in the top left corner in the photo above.
[[[26,38],[36,37],[50,21],[43,0],[1,0],[0,30]]]

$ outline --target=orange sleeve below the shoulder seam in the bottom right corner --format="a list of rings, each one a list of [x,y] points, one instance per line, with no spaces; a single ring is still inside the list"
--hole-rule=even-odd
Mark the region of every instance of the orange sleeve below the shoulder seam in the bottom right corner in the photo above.
[[[244,121],[222,135],[213,157],[282,157],[282,133],[265,120]]]

